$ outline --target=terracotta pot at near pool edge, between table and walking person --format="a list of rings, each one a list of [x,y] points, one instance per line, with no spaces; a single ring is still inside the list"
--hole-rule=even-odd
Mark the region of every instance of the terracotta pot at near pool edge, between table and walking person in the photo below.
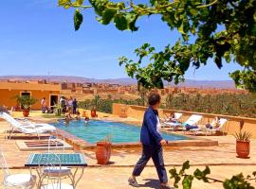
[[[111,136],[106,136],[104,141],[100,141],[96,146],[96,159],[99,164],[107,164],[111,156]]]

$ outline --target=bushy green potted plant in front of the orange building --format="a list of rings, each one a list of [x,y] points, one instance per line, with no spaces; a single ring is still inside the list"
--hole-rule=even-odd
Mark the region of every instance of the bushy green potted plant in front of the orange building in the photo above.
[[[37,99],[31,97],[30,95],[17,95],[17,102],[21,105],[23,115],[27,117],[29,115],[31,105],[35,104]]]

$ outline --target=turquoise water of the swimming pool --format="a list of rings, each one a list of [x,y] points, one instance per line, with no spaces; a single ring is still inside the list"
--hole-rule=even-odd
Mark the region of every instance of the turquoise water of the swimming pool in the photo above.
[[[60,121],[52,125],[82,138],[91,144],[104,140],[109,134],[113,143],[138,142],[140,137],[139,127],[124,123],[90,120],[87,127],[85,127],[83,121],[72,121],[68,125],[64,125],[64,122]],[[189,139],[188,137],[174,134],[161,133],[161,135],[168,141]]]

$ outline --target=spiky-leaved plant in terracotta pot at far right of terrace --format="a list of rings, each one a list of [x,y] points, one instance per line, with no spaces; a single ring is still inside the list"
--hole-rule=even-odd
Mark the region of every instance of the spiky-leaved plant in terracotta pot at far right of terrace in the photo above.
[[[236,138],[236,153],[238,158],[249,158],[249,139],[251,132],[239,131],[234,134]]]

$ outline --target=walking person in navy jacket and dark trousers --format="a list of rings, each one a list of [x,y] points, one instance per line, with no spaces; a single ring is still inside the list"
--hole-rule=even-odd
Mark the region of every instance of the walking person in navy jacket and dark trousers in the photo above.
[[[134,187],[138,187],[136,177],[140,175],[148,161],[152,158],[155,164],[156,172],[160,180],[161,189],[170,189],[168,185],[167,173],[163,160],[162,146],[167,145],[160,133],[160,122],[157,109],[160,104],[161,97],[157,93],[149,95],[149,108],[144,113],[144,119],[140,131],[140,142],[142,144],[142,155],[134,167],[132,176],[128,182]]]

